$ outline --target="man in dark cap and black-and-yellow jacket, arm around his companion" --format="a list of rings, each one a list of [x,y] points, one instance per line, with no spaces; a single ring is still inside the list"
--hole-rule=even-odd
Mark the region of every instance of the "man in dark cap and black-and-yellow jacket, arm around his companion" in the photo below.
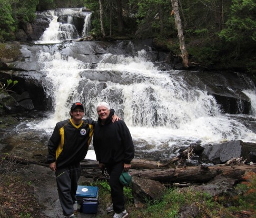
[[[87,154],[95,121],[82,119],[84,107],[80,102],[73,103],[70,115],[70,119],[58,122],[54,128],[48,142],[47,162],[56,175],[63,214],[74,218],[73,204],[76,201],[77,181],[81,175],[80,161]],[[113,121],[115,119],[116,116]]]

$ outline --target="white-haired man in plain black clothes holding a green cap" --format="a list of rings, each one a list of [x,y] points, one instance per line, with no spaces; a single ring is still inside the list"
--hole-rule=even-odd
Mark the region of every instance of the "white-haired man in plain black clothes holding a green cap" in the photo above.
[[[107,212],[115,211],[113,218],[128,215],[125,210],[123,185],[119,182],[122,171],[129,171],[134,158],[131,133],[124,121],[111,122],[113,112],[108,103],[102,101],[96,106],[99,119],[94,127],[93,147],[99,168],[106,168],[110,175],[112,205]]]

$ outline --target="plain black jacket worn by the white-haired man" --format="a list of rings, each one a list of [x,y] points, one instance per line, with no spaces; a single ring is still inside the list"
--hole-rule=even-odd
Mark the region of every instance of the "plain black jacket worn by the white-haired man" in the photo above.
[[[130,164],[134,158],[134,145],[131,133],[124,121],[112,122],[112,111],[104,126],[101,119],[95,123],[93,147],[100,163],[123,162]]]

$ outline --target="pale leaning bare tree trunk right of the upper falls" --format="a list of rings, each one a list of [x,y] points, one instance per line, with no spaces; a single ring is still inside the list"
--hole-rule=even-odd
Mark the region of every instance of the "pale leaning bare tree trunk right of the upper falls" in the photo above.
[[[179,13],[178,0],[171,0],[171,1],[172,1],[172,8],[174,11],[176,28],[178,30],[178,36],[179,36],[179,40],[180,40],[180,50],[181,50],[183,66],[185,68],[188,68],[189,67],[189,54],[188,54],[188,51],[186,51],[185,38],[183,35],[183,29],[182,29],[181,18],[180,18],[180,13]]]

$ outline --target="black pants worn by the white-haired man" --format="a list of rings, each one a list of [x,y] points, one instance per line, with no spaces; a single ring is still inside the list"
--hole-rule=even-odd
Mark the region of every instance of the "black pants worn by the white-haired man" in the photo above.
[[[106,164],[107,173],[109,173],[110,175],[111,198],[115,213],[121,213],[122,211],[124,211],[124,186],[119,182],[119,177],[123,169],[123,162]]]

